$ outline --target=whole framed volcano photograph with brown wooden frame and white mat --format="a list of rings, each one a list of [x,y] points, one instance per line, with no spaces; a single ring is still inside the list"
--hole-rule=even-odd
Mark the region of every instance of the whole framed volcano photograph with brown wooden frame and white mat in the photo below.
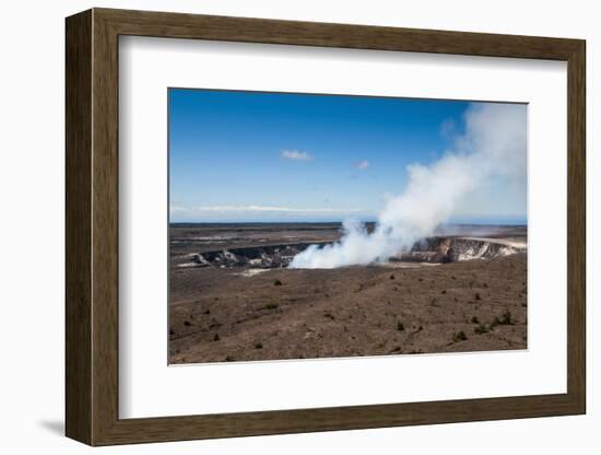
[[[67,435],[585,413],[585,54],[68,18]]]

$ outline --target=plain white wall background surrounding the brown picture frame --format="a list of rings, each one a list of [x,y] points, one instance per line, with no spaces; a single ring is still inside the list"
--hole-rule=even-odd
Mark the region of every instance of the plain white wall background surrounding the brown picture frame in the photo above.
[[[599,453],[601,395],[593,332],[594,267],[601,254],[593,212],[601,178],[594,153],[601,110],[601,28],[596,2],[478,0],[366,1],[74,1],[7,2],[0,19],[0,448],[3,453],[91,451],[63,431],[63,18],[90,7],[346,22],[586,38],[588,46],[588,415],[584,417],[181,442],[96,453],[427,454]],[[600,70],[601,71],[601,70]],[[597,220],[596,220],[597,218]],[[596,264],[597,262],[597,264]],[[597,288],[598,291],[598,288]]]

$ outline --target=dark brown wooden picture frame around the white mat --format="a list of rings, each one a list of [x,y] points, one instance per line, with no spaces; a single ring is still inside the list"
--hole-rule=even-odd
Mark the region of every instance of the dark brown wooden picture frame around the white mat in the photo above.
[[[119,419],[119,35],[567,61],[567,393]],[[67,435],[109,445],[585,413],[585,49],[579,39],[108,9],[68,18]]]

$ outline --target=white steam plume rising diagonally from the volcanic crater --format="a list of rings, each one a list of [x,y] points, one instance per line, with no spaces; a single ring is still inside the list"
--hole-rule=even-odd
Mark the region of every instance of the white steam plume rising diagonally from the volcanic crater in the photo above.
[[[464,119],[466,132],[453,150],[427,166],[408,166],[404,192],[388,200],[374,232],[368,233],[358,221],[346,220],[339,242],[309,246],[290,267],[335,268],[388,260],[448,222],[486,179],[500,177],[525,190],[526,106],[474,104]]]

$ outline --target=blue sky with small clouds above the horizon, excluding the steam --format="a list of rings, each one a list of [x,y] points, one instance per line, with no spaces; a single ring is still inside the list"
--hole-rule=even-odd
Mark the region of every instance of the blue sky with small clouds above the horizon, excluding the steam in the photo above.
[[[409,164],[453,145],[471,104],[169,89],[170,221],[375,220]],[[453,221],[523,220],[523,197],[493,186],[496,211],[484,200]]]

